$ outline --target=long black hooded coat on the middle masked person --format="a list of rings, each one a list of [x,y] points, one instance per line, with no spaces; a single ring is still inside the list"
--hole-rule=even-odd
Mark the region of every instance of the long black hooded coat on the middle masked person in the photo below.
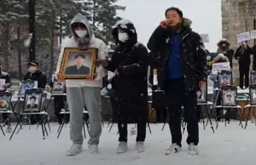
[[[125,43],[118,41],[118,29],[129,35]],[[113,113],[119,121],[137,122],[148,119],[148,50],[143,43],[137,43],[137,32],[131,21],[119,20],[113,28],[113,38],[119,43],[108,71],[119,72],[112,79],[114,89]]]

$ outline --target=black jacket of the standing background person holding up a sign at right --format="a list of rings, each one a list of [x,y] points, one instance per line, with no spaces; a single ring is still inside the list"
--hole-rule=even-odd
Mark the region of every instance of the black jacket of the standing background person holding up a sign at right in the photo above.
[[[239,64],[249,65],[251,63],[252,48],[247,46],[244,48],[242,45],[236,49],[235,58]]]

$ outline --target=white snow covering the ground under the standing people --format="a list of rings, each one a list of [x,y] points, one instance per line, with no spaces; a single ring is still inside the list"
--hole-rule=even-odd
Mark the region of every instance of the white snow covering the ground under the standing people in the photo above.
[[[243,122],[244,123],[244,122]],[[163,124],[150,124],[152,134],[147,134],[146,151],[137,153],[134,150],[135,135],[129,135],[130,150],[124,154],[116,154],[118,145],[117,126],[108,132],[107,124],[102,128],[101,153],[88,153],[87,139],[84,140],[84,152],[78,156],[65,156],[65,152],[72,144],[69,140],[69,128],[63,128],[61,137],[57,139],[56,123],[51,123],[51,132],[46,139],[42,139],[42,131],[36,126],[31,130],[25,126],[19,134],[15,134],[9,141],[10,134],[3,136],[0,132],[0,164],[3,165],[241,165],[255,161],[256,126],[249,122],[247,129],[238,126],[238,122],[230,122],[227,127],[220,123],[218,130],[212,134],[208,126],[203,130],[200,124],[200,155],[189,156],[186,145],[187,133],[183,138],[183,151],[166,156],[165,150],[171,144],[168,125],[161,131]],[[130,127],[132,127],[131,125]],[[86,135],[87,132],[86,132]]]

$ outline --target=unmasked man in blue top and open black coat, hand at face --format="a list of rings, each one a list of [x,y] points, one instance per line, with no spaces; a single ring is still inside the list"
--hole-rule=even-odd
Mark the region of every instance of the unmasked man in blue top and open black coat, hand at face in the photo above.
[[[201,37],[192,31],[191,20],[183,18],[177,8],[166,9],[166,20],[160,22],[148,41],[148,49],[159,51],[158,84],[165,90],[172,145],[166,155],[182,151],[181,108],[188,122],[189,154],[198,154],[199,143],[196,92],[207,82],[207,55]]]

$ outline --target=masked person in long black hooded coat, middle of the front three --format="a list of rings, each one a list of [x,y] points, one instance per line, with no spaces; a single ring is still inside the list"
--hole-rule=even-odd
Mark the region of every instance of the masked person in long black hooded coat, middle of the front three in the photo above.
[[[96,61],[108,71],[115,72],[113,111],[116,111],[119,128],[118,153],[127,151],[127,123],[137,122],[138,152],[144,151],[148,121],[148,50],[137,43],[137,32],[130,20],[119,20],[113,28],[113,38],[119,46],[112,59]]]

